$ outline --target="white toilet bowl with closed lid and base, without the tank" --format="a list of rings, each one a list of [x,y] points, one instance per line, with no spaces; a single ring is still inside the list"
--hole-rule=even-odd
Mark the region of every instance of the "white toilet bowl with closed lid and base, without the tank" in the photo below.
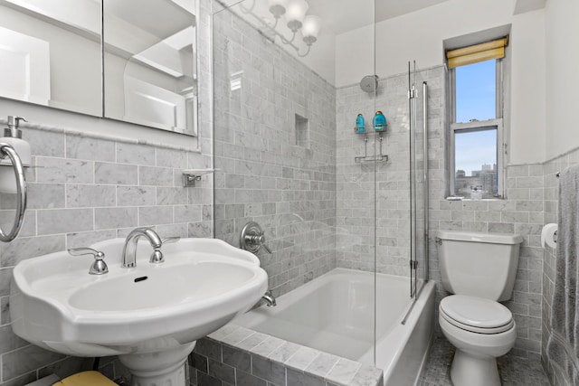
[[[508,353],[517,339],[508,308],[489,299],[453,295],[441,301],[439,324],[456,347],[454,386],[499,386],[496,358]]]

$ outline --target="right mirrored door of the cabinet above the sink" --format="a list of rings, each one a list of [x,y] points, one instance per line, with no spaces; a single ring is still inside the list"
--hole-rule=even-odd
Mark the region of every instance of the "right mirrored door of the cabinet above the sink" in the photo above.
[[[193,1],[104,0],[103,9],[104,117],[195,135]]]

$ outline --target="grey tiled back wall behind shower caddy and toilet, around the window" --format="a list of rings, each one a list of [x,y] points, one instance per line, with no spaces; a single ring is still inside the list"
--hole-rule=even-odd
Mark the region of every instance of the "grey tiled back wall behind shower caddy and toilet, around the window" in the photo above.
[[[438,230],[489,231],[524,236],[516,287],[507,306],[517,321],[517,344],[511,354],[538,361],[541,353],[541,275],[543,249],[543,165],[511,165],[507,172],[506,200],[451,202],[445,161],[445,72],[442,67],[419,71],[429,87],[429,186],[430,186],[430,276],[439,283],[438,300],[447,294],[440,285],[438,256],[433,240]],[[368,218],[374,210],[376,184],[376,269],[408,276],[410,255],[409,218],[409,118],[407,74],[380,80],[375,104],[372,95],[358,85],[337,89],[337,266],[374,269],[374,228]],[[364,136],[354,132],[358,113],[367,121],[374,110],[388,118],[384,136],[383,165],[359,165],[354,156],[364,154]],[[368,150],[375,152],[375,136],[369,136]],[[374,183],[374,173],[376,183]],[[369,223],[370,222],[370,223]],[[340,238],[339,234],[347,235]],[[440,332],[439,332],[440,333]]]

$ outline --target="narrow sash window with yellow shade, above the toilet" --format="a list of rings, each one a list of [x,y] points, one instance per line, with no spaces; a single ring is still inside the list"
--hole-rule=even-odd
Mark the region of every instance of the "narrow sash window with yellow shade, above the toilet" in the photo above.
[[[503,195],[502,67],[507,42],[504,38],[447,52],[452,195]]]

